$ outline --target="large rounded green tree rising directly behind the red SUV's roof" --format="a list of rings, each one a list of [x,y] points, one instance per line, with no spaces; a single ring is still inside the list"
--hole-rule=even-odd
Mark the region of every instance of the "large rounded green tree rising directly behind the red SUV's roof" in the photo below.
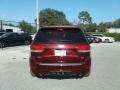
[[[65,14],[54,9],[44,9],[40,12],[39,16],[41,26],[70,25]]]

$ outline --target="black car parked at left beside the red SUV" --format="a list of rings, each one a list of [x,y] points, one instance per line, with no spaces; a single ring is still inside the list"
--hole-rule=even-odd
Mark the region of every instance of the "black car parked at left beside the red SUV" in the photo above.
[[[24,33],[5,33],[0,36],[0,48],[12,46],[12,45],[28,45],[32,42],[32,37],[25,35]]]

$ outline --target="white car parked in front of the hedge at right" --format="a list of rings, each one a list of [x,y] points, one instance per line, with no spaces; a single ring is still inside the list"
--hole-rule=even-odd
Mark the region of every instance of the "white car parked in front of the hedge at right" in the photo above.
[[[94,37],[100,38],[104,43],[113,43],[115,39],[113,37],[104,36],[103,34],[93,34]]]

